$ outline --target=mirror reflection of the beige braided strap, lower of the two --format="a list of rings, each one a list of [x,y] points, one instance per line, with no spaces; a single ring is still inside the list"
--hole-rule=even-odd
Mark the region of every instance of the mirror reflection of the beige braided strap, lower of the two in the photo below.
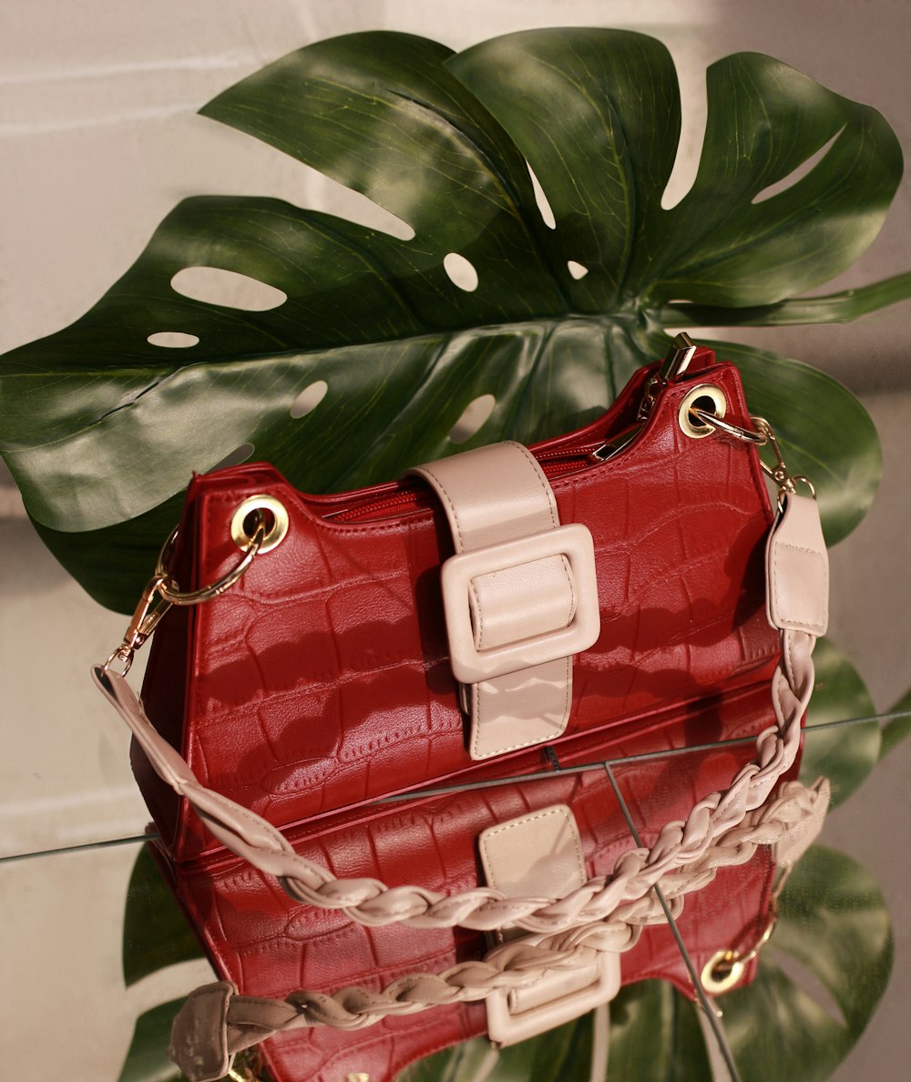
[[[747,863],[760,845],[774,847],[779,867],[796,861],[822,826],[829,795],[824,779],[811,788],[784,783],[774,801],[717,836],[699,860],[662,876],[659,885],[671,915],[679,916],[684,896],[710,883],[718,868]],[[500,990],[527,987],[554,969],[585,965],[595,952],[630,950],[645,926],[665,920],[660,900],[649,893],[604,921],[513,940],[440,974],[406,974],[379,992],[358,987],[331,995],[299,990],[275,1000],[239,995],[233,982],[217,981],[190,994],[174,1021],[169,1054],[193,1082],[208,1082],[221,1078],[238,1052],[273,1033],[315,1026],[362,1029],[390,1016],[485,1000]]]

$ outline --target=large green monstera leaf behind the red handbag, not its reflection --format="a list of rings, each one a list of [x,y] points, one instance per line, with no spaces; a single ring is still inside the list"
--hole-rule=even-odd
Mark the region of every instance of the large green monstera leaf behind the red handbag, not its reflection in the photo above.
[[[678,88],[638,34],[536,30],[459,55],[359,34],[230,88],[202,113],[362,193],[398,235],[275,199],[180,203],[85,316],[3,360],[3,453],[41,536],[132,609],[192,472],[226,457],[312,491],[377,481],[591,420],[665,352],[665,324],[850,318],[911,292],[793,299],[884,220],[901,155],[875,110],[753,53],[710,67],[708,98],[696,181],[665,208]],[[187,285],[198,267],[272,289],[215,303]],[[872,424],[810,369],[735,359],[837,540],[879,478]]]

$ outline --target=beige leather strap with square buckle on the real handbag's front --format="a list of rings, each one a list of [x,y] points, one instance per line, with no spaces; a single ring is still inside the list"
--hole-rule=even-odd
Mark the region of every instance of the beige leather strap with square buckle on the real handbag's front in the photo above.
[[[569,718],[572,655],[600,629],[591,533],[560,526],[547,478],[520,444],[411,472],[437,493],[452,531],[441,584],[472,758],[556,739]]]

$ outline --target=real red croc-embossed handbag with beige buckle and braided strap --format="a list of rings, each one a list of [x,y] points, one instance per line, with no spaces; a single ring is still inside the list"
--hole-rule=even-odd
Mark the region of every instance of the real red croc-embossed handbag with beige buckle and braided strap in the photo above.
[[[754,445],[769,438],[736,370],[679,342],[605,417],[533,453],[479,448],[328,497],[263,465],[195,478],[123,645],[95,671],[133,728],[136,777],[176,867],[212,865],[228,845],[292,897],[366,926],[551,933],[605,920],[699,859],[794,763],[824,630],[815,503],[780,462],[782,514],[765,544]],[[167,609],[143,689],[156,733],[116,669]],[[336,879],[275,829],[584,762],[769,681],[776,724],[754,761],[650,850],[560,901],[541,889],[447,899],[346,878],[355,869]]]

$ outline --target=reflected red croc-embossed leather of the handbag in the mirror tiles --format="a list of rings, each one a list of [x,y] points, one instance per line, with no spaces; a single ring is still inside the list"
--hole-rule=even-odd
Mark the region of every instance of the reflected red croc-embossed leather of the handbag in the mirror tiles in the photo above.
[[[645,754],[753,735],[773,722],[766,688],[703,704],[676,721],[626,740],[590,747],[583,762]],[[698,794],[723,787],[751,755],[750,744],[659,754],[613,767],[620,792],[645,844],[663,823],[684,818]],[[571,765],[569,762],[564,766]],[[372,805],[340,813],[288,833],[296,852],[340,875],[377,875],[391,883],[420,882],[453,893],[479,882],[477,835],[487,827],[554,803],[569,804],[579,826],[589,875],[610,872],[632,843],[604,769],[506,782],[436,797]],[[260,872],[235,858],[210,858],[204,868],[164,860],[175,894],[222,976],[251,995],[283,997],[295,988],[327,992],[348,985],[379,989],[420,971],[439,972],[484,953],[484,937],[465,929],[427,931],[402,925],[368,929],[343,913],[291,901]],[[687,897],[678,921],[701,971],[718,950],[745,951],[765,929],[774,876],[768,849],[749,865],[724,869]],[[687,971],[666,927],[647,928],[622,955],[624,984],[671,980],[692,995]],[[748,966],[744,982],[752,979]],[[338,1082],[364,1072],[388,1082],[409,1063],[485,1032],[483,1005],[434,1008],[388,1018],[353,1032],[299,1030],[261,1046],[282,1082]]]

